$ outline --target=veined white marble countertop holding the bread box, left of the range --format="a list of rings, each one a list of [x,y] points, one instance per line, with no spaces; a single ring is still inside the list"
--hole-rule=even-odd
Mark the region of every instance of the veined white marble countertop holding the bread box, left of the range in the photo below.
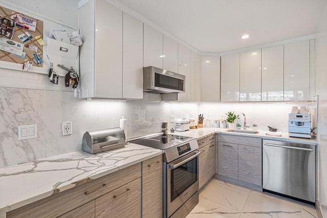
[[[0,168],[0,218],[6,212],[162,154],[138,144],[91,155],[74,152]]]

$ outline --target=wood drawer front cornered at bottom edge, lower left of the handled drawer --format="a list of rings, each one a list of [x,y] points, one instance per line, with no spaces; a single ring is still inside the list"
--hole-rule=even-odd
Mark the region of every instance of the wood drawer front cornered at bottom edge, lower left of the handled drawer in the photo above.
[[[58,218],[94,218],[95,214],[95,200],[88,202],[74,210],[69,211]]]

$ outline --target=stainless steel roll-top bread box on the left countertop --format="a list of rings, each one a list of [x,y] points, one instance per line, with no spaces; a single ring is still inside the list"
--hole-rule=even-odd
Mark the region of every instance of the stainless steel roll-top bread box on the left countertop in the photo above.
[[[82,150],[90,154],[118,149],[125,146],[125,133],[121,128],[85,132]]]

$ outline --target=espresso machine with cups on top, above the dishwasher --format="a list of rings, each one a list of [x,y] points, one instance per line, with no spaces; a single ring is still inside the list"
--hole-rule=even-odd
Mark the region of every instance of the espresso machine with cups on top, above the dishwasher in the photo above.
[[[311,138],[311,114],[290,113],[288,132],[291,137]]]

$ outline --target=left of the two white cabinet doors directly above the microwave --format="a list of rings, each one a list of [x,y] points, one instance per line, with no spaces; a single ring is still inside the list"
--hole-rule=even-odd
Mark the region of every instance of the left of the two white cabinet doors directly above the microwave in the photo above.
[[[162,67],[162,33],[144,23],[143,66]]]

